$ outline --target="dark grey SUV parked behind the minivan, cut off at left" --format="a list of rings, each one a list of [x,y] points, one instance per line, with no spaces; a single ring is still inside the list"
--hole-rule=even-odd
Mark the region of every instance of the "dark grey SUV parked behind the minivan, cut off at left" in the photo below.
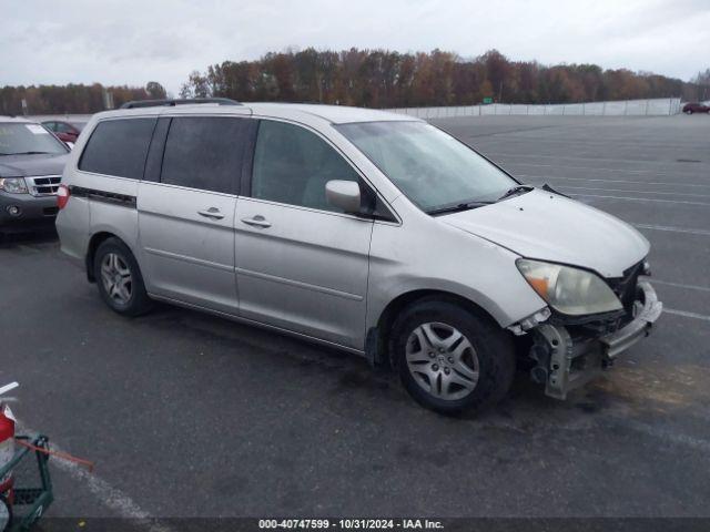
[[[52,227],[68,153],[42,125],[0,116],[0,236]]]

